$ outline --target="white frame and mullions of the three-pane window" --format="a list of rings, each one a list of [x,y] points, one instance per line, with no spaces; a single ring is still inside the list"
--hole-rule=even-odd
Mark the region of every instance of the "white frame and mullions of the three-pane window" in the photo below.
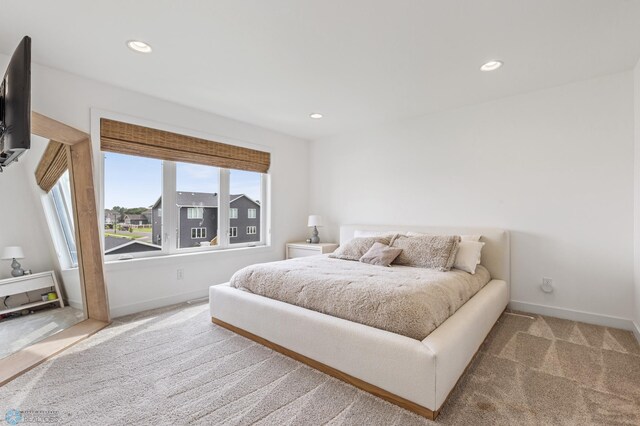
[[[100,196],[100,223],[101,223],[101,241],[104,244],[104,233],[105,233],[105,224],[104,224],[104,196],[105,196],[105,179],[104,179],[104,170],[105,170],[105,155],[110,153],[99,151],[98,155],[100,155],[100,171],[101,171],[101,196]],[[129,155],[129,154],[122,154]],[[135,157],[135,155],[133,155]],[[146,158],[146,157],[142,157]],[[268,185],[270,184],[269,174],[268,173],[259,173],[260,174],[260,191],[261,191],[261,202],[260,209],[265,210],[260,214],[260,239],[258,241],[244,242],[244,243],[235,243],[231,240],[231,238],[237,238],[237,227],[236,228],[236,236],[231,237],[230,229],[230,210],[231,208],[223,209],[220,206],[229,205],[230,204],[230,170],[231,169],[223,169],[218,168],[220,176],[219,176],[219,192],[218,192],[218,244],[211,246],[200,246],[200,247],[182,247],[178,248],[178,241],[180,241],[180,226],[179,226],[179,209],[167,209],[167,205],[176,205],[176,191],[177,191],[177,181],[176,181],[176,165],[181,162],[175,161],[164,161],[158,160],[162,163],[162,245],[161,249],[157,251],[146,251],[146,252],[136,252],[136,253],[126,253],[126,254],[114,254],[109,255],[105,254],[105,261],[122,261],[122,260],[130,260],[130,259],[140,259],[140,258],[152,258],[152,257],[162,257],[162,256],[175,256],[193,252],[213,252],[213,251],[224,251],[228,249],[235,248],[243,248],[243,247],[266,247],[269,246],[269,238],[268,238],[268,214],[266,209],[269,207],[268,195],[270,194],[270,188]],[[257,172],[256,172],[257,173]],[[188,214],[188,213],[187,213]],[[167,232],[167,230],[174,229],[175,232]],[[256,234],[258,234],[256,232]],[[208,237],[205,237],[208,238]],[[104,250],[103,250],[104,253]]]

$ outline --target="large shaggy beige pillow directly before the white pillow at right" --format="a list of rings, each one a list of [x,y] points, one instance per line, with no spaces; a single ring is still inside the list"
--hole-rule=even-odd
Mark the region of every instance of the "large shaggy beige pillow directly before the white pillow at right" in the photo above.
[[[393,263],[448,271],[456,259],[460,237],[457,235],[398,236],[392,246],[402,253]]]

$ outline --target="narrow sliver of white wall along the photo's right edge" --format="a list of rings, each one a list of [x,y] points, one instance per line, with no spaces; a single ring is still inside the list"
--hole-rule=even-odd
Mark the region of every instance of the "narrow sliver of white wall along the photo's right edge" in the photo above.
[[[634,177],[634,284],[635,284],[635,333],[640,341],[640,61],[634,76],[634,121],[635,121],[635,177]]]

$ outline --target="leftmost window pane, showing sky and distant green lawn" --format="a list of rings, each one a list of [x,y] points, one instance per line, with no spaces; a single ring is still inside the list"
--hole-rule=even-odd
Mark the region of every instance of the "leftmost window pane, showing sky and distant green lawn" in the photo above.
[[[162,180],[161,160],[104,155],[105,255],[117,259],[162,251]]]

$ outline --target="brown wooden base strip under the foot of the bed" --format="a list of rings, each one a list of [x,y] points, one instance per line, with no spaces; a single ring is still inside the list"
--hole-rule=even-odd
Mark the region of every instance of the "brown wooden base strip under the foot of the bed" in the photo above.
[[[353,385],[359,389],[362,389],[365,392],[368,392],[370,394],[373,394],[379,398],[384,399],[385,401],[388,401],[392,404],[395,404],[399,407],[402,407],[406,410],[412,411],[416,414],[419,414],[423,417],[426,417],[429,420],[435,420],[435,418],[438,416],[439,411],[432,411],[426,407],[423,407],[422,405],[418,405],[415,402],[411,402],[408,399],[402,398],[401,396],[395,395],[389,391],[386,391],[382,388],[379,388],[377,386],[374,386],[370,383],[365,382],[364,380],[360,380],[356,377],[350,376],[349,374],[343,373],[340,370],[336,370],[333,367],[329,367],[326,364],[323,364],[321,362],[318,362],[314,359],[311,359],[309,357],[306,357],[304,355],[301,355],[297,352],[294,352],[290,349],[285,348],[284,346],[280,346],[276,343],[273,343],[267,339],[263,339],[260,336],[256,336],[253,333],[249,333],[246,330],[243,330],[241,328],[238,328],[234,325],[231,325],[229,323],[226,323],[222,320],[219,320],[218,318],[214,318],[211,317],[211,322],[213,322],[214,324],[219,325],[220,327],[224,327],[227,330],[231,330],[236,334],[239,334],[241,336],[246,337],[247,339],[251,339],[254,342],[260,343],[263,346],[266,346],[270,349],[273,349],[276,352],[280,352],[283,355],[288,356],[289,358],[293,358],[296,361],[300,361],[303,364],[307,364],[309,367],[311,368],[315,368],[318,371],[322,371],[325,374],[328,374],[332,377],[335,377],[336,379],[342,380],[343,382],[349,383],[350,385]]]

